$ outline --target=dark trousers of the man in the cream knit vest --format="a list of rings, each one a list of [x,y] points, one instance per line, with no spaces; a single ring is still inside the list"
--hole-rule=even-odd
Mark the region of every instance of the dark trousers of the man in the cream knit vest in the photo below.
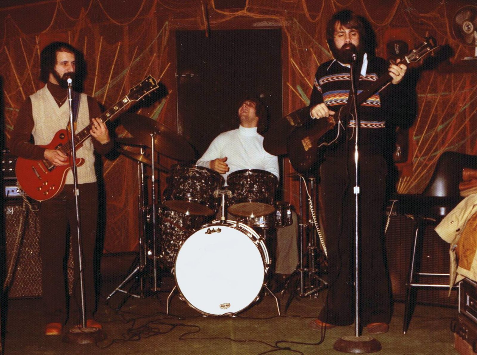
[[[92,318],[95,307],[94,248],[98,218],[98,188],[96,183],[79,185],[80,222],[82,234],[85,305],[87,318]],[[78,236],[73,185],[65,185],[54,198],[40,205],[40,255],[42,298],[47,323],[65,323],[68,318],[68,277],[65,267],[70,241],[66,239],[68,224],[73,246],[74,281],[70,309],[81,323],[81,287],[79,282]]]

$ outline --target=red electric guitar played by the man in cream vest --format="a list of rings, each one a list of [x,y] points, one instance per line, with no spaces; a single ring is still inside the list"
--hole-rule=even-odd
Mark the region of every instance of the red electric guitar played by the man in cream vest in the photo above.
[[[98,118],[103,120],[103,122],[109,121],[121,112],[127,104],[140,100],[157,87],[156,79],[149,75],[144,81],[129,90],[126,96]],[[79,149],[83,145],[83,142],[91,136],[89,133],[90,130],[91,124],[74,136],[76,149]],[[64,187],[66,174],[73,166],[70,137],[71,133],[66,129],[61,129],[56,132],[49,145],[43,146],[47,149],[58,149],[66,156],[69,156],[70,166],[55,167],[47,159],[32,160],[21,157],[17,159],[15,173],[17,175],[18,184],[28,196],[38,201],[44,201],[61,192]],[[76,165],[78,167],[82,166],[83,163],[83,158],[76,158]]]

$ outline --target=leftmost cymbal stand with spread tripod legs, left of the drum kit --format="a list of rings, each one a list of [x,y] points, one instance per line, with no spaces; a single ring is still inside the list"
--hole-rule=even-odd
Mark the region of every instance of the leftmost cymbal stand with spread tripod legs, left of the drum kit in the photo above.
[[[144,148],[141,147],[141,154],[144,154]],[[138,224],[138,235],[139,235],[139,254],[136,257],[135,262],[138,263],[138,265],[135,267],[129,275],[126,276],[123,282],[119,284],[118,287],[114,289],[113,292],[111,292],[108,297],[106,297],[106,303],[108,303],[108,300],[116,293],[117,291],[126,293],[128,296],[133,296],[136,298],[142,298],[145,296],[144,293],[144,275],[143,272],[145,270],[146,264],[147,264],[147,248],[145,245],[145,210],[146,210],[146,202],[145,202],[145,178],[144,178],[144,163],[138,161],[137,162],[137,208],[138,208],[138,216],[139,216],[139,224]],[[125,291],[121,287],[128,282],[136,272],[140,272],[139,276],[139,287],[140,287],[140,292],[139,294],[132,293],[131,290]],[[120,309],[122,305],[125,303],[127,298],[125,298],[120,305],[117,307],[117,309]]]

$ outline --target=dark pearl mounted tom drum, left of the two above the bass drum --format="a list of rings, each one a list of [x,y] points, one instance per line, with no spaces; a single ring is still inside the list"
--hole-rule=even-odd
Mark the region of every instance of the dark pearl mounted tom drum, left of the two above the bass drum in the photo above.
[[[210,216],[217,203],[214,191],[224,185],[216,171],[197,165],[176,164],[171,168],[171,187],[164,204],[178,212]]]

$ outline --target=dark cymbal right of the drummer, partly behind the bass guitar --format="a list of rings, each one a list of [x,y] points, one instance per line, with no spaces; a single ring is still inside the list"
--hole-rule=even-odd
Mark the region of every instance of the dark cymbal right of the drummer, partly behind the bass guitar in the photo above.
[[[267,132],[265,132],[263,148],[271,155],[279,156],[287,154],[288,136],[295,127],[302,125],[305,121],[305,114],[307,113],[308,107],[302,107],[285,117],[280,117],[275,120]]]

